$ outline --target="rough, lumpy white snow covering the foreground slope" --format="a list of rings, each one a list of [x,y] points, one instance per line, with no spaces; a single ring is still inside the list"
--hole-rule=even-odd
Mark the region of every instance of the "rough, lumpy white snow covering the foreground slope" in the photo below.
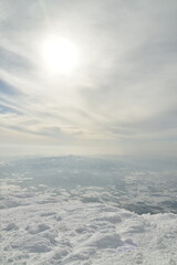
[[[176,214],[137,215],[98,201],[100,188],[1,191],[2,265],[177,264]]]

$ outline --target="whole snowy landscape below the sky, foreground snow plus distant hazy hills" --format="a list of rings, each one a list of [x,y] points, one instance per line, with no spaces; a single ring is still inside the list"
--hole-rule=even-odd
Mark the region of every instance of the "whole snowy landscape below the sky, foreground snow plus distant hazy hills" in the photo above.
[[[0,165],[0,264],[177,265],[175,171],[53,159]]]

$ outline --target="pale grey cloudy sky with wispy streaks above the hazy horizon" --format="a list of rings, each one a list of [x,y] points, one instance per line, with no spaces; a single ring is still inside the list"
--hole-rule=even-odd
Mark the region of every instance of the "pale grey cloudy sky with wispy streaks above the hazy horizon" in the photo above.
[[[0,156],[176,157],[176,0],[1,0]]]

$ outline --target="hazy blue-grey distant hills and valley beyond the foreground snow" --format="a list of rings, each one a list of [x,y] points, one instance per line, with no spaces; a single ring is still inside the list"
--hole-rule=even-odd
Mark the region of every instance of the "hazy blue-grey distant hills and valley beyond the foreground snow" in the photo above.
[[[30,187],[29,198],[33,193],[32,187],[41,190],[44,187],[72,190],[81,186],[87,187],[87,193],[82,194],[85,203],[110,201],[138,214],[177,213],[176,160],[129,162],[128,159],[117,161],[72,156],[19,159],[1,162],[0,172],[0,179],[11,186]],[[93,187],[97,187],[96,191]],[[105,190],[102,198],[98,195],[98,187]],[[0,208],[28,203],[22,199],[23,194],[14,200],[9,197]]]

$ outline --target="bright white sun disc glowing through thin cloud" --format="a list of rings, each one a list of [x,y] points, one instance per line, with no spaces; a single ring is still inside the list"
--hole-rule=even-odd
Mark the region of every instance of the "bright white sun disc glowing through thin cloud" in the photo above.
[[[49,35],[42,43],[41,55],[51,74],[69,74],[76,68],[79,53],[75,45],[65,38]]]

